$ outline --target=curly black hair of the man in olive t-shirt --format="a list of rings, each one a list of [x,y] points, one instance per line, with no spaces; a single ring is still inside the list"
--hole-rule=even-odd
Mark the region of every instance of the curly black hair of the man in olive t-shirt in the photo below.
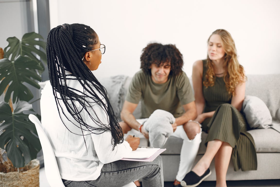
[[[179,75],[183,68],[183,55],[175,45],[161,43],[150,43],[143,50],[140,57],[140,68],[144,73],[151,75],[151,64],[160,66],[162,63],[170,62],[171,70],[169,76]]]

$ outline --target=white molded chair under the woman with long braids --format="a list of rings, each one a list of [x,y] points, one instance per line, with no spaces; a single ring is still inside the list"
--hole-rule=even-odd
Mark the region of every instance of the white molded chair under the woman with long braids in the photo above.
[[[50,184],[51,187],[65,187],[60,177],[60,173],[52,149],[52,145],[50,144],[47,135],[45,134],[44,130],[41,127],[41,122],[33,114],[29,114],[28,117],[30,121],[35,124],[41,142],[43,155],[44,155],[45,173],[46,173],[46,178],[48,180],[48,183]],[[131,182],[123,187],[135,187],[135,186],[136,185],[133,182]]]

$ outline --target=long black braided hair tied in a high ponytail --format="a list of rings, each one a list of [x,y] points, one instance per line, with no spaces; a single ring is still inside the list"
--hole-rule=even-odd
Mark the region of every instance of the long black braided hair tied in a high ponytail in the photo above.
[[[69,114],[80,124],[78,127],[81,129],[81,134],[78,135],[101,134],[105,131],[111,131],[111,143],[114,150],[117,144],[123,142],[122,129],[113,112],[106,89],[82,61],[85,53],[93,50],[97,43],[98,36],[89,26],[63,24],[53,28],[48,34],[46,49],[49,79],[60,119],[62,120],[59,108],[66,119],[69,120],[60,105],[59,101],[62,101]],[[67,75],[66,71],[71,74]],[[73,79],[73,77],[81,84],[83,91],[67,86],[67,80]],[[87,124],[82,119],[81,111],[74,104],[76,102],[88,113],[93,124],[96,124],[97,127],[91,126],[91,123]],[[108,124],[103,124],[96,115],[92,108],[96,104],[107,114]],[[91,115],[92,112],[95,114],[94,116]],[[62,123],[66,126],[63,120]],[[69,128],[67,129],[69,130]]]

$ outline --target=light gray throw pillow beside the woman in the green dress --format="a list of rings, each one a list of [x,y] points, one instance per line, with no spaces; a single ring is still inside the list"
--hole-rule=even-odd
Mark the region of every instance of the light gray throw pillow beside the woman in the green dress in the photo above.
[[[256,96],[246,95],[243,112],[251,128],[267,129],[272,124],[272,117],[265,103]]]

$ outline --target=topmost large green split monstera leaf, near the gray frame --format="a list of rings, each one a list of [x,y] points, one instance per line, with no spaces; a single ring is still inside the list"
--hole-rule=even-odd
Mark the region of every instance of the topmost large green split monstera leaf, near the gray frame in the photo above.
[[[46,42],[40,39],[44,40],[43,36],[35,32],[24,34],[21,40],[18,40],[15,36],[7,38],[9,44],[4,48],[4,57],[10,59],[10,61],[15,61],[19,55],[28,56],[35,60],[44,70],[44,65],[36,57],[38,55],[45,65],[47,64],[46,53],[36,48],[36,46],[40,46],[46,51]],[[30,67],[30,69],[33,68]],[[39,73],[41,75],[43,71],[39,71]]]

